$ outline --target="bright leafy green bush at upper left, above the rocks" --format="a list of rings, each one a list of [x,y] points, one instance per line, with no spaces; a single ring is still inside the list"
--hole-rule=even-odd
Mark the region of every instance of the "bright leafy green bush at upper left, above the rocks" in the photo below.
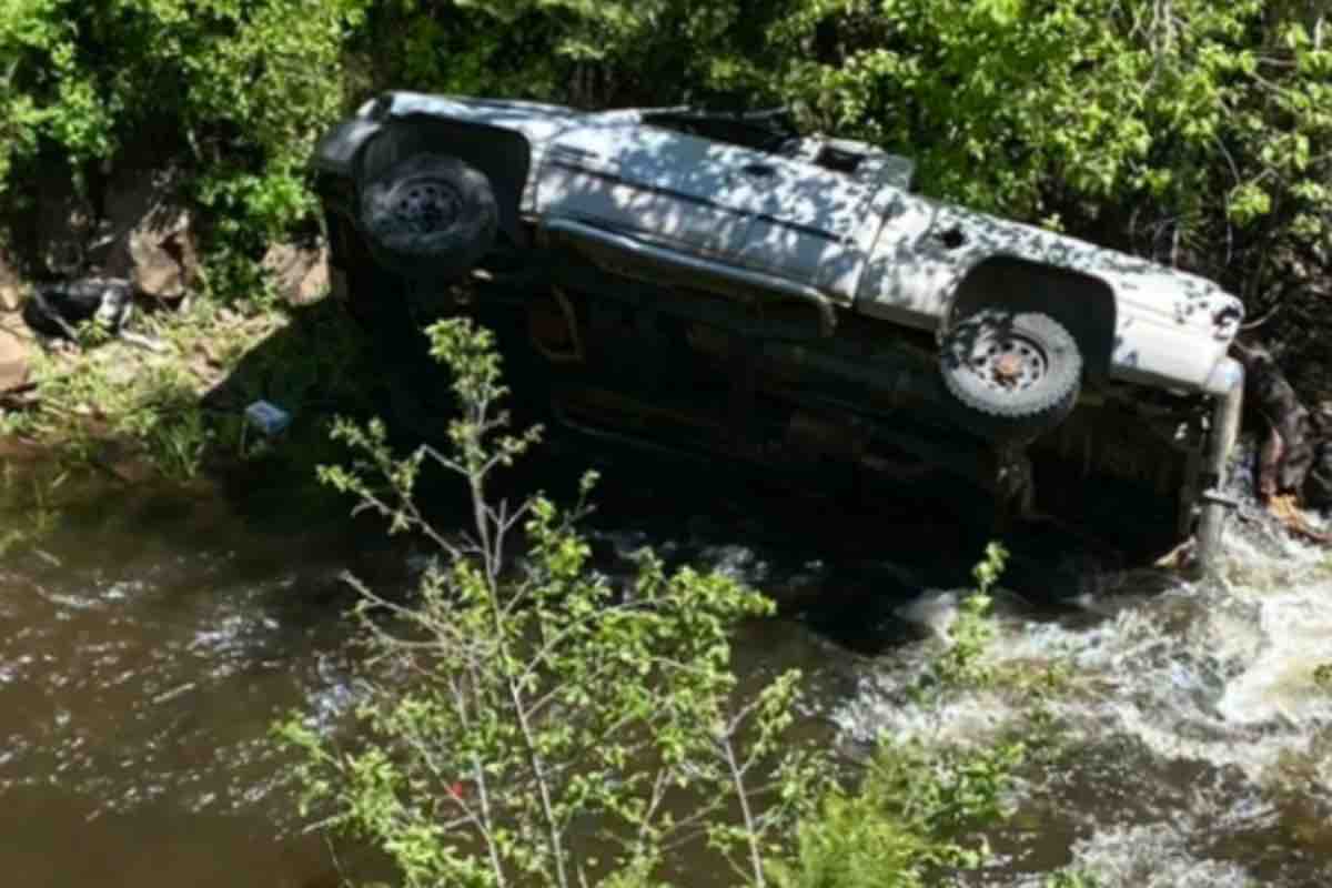
[[[37,154],[87,189],[147,153],[193,166],[224,238],[308,214],[304,165],[344,111],[342,49],[365,0],[4,0],[0,193]]]

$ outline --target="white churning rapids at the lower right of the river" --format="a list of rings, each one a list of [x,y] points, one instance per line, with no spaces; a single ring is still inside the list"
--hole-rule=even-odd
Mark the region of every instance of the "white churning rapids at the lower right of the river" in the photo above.
[[[964,884],[1039,888],[1051,857],[1100,888],[1332,884],[1332,687],[1315,678],[1332,663],[1332,550],[1249,510],[1229,522],[1219,576],[1152,583],[1095,578],[1083,612],[1063,616],[996,595],[1000,674],[1064,668],[1042,698],[1064,752],[1023,775],[1026,832],[991,836],[1006,864]],[[967,746],[1023,730],[1032,700],[1003,682],[942,706],[907,694],[958,599],[931,590],[898,610],[934,638],[858,674],[834,714],[844,740]]]

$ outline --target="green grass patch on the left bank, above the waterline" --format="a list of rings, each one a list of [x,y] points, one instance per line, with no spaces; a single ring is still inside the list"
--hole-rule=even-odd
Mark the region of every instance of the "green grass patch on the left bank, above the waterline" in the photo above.
[[[85,326],[77,346],[39,353],[35,405],[0,411],[0,435],[67,469],[189,483],[209,466],[272,451],[246,435],[246,403],[268,398],[294,415],[356,410],[376,378],[336,305],[236,310],[194,300],[185,312],[140,316],[132,329],[160,347]],[[213,390],[221,397],[205,402]]]

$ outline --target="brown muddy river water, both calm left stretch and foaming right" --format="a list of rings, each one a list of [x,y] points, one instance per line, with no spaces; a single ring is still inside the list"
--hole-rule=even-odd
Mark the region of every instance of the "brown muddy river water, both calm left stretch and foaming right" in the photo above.
[[[741,663],[806,670],[848,748],[883,731],[983,743],[1016,718],[1011,696],[930,712],[902,694],[983,535],[633,471],[609,477],[590,526],[603,568],[650,543],[802,602]],[[995,863],[964,884],[1038,887],[1071,861],[1126,888],[1332,884],[1332,690],[1312,676],[1332,660],[1332,558],[1228,534],[1215,582],[1075,560],[1059,604],[1035,575],[1006,582],[996,656],[1071,664],[1047,703],[1071,743],[1023,772]],[[7,554],[0,885],[334,884],[265,736],[292,707],[348,700],[340,572],[401,587],[421,556],[328,501],[214,487],[99,489]]]

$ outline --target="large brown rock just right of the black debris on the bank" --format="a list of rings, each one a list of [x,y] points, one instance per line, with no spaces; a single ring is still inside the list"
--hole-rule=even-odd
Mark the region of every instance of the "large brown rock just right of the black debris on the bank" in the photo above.
[[[129,278],[144,296],[181,300],[198,278],[198,252],[170,172],[119,172],[107,184],[104,212],[104,273]]]

